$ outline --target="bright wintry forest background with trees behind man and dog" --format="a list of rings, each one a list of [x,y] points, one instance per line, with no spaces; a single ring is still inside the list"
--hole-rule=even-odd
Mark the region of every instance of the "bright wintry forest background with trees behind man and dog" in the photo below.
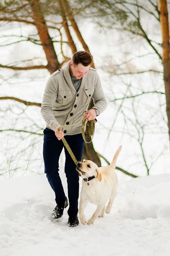
[[[164,0],[1,1],[0,178],[44,172],[45,84],[77,50],[91,52],[108,102],[84,157],[108,165],[122,145],[120,180],[170,172],[166,3],[169,10]],[[64,161],[62,152],[61,169]]]

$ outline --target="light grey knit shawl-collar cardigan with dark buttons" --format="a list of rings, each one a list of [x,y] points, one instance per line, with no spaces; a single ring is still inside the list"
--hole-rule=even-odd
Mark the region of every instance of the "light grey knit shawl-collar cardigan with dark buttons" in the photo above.
[[[47,128],[55,131],[57,125],[66,125],[63,128],[65,135],[74,135],[81,133],[83,114],[87,111],[90,99],[94,100],[98,115],[105,110],[107,102],[96,70],[90,67],[76,91],[69,67],[70,61],[49,77],[42,99],[41,114]],[[69,126],[74,124],[77,125]]]

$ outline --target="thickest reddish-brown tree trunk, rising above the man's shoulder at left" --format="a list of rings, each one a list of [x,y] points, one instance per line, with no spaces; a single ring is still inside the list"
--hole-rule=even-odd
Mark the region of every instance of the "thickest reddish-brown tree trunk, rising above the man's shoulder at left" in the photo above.
[[[54,49],[53,41],[51,40],[51,37],[48,33],[48,28],[45,24],[45,20],[41,12],[41,5],[39,0],[30,0],[29,2],[32,10],[31,15],[37,27],[42,48],[47,58],[48,71],[52,74],[60,68],[57,54]]]

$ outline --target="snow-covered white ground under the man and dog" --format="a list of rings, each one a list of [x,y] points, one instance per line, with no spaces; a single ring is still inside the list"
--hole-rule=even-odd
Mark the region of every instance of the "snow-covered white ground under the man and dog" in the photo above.
[[[0,195],[0,256],[170,255],[168,174],[120,183],[111,213],[91,226],[67,227],[68,208],[58,222],[51,218],[55,201],[45,175],[0,180]],[[85,215],[94,209],[89,204]]]

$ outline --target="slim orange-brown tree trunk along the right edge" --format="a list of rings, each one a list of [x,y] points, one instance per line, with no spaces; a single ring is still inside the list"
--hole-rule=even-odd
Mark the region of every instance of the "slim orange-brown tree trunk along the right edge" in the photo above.
[[[166,95],[166,111],[170,138],[170,35],[169,20],[167,12],[167,0],[159,0],[160,22],[162,33],[163,56],[162,63],[164,67],[164,85]]]

